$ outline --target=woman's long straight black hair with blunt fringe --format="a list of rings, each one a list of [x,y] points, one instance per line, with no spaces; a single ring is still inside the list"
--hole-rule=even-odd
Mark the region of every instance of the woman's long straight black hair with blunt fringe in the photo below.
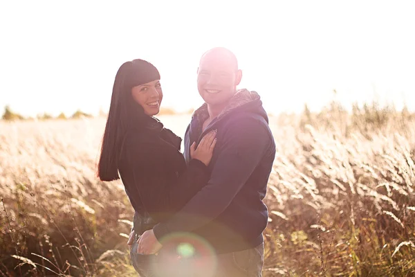
[[[101,181],[120,179],[118,162],[124,135],[131,127],[140,125],[146,117],[144,109],[133,99],[131,88],[151,79],[156,80],[157,76],[160,79],[157,69],[143,60],[124,62],[118,69],[98,163]]]

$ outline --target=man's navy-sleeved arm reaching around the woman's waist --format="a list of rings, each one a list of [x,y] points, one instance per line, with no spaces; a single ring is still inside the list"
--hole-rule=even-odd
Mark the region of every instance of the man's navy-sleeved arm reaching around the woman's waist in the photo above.
[[[160,241],[168,233],[192,231],[218,217],[258,166],[270,145],[266,127],[253,118],[235,122],[222,138],[220,153],[208,185],[202,188],[176,215],[154,226]]]

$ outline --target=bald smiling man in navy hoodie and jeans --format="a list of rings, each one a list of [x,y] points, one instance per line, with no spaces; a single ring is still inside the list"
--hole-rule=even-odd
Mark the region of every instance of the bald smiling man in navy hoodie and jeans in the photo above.
[[[262,200],[275,158],[268,116],[255,91],[237,90],[242,72],[228,49],[206,52],[197,76],[205,104],[187,127],[185,158],[190,160],[192,143],[217,129],[210,181],[167,222],[143,233],[138,251],[156,253],[169,235],[190,232],[212,247],[214,276],[261,276],[268,222]]]

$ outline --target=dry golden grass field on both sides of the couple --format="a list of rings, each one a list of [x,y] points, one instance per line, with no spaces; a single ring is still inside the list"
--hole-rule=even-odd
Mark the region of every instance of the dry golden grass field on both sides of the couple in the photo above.
[[[160,119],[183,136],[190,118]],[[272,118],[264,276],[415,276],[414,120],[300,123]],[[103,128],[0,121],[0,276],[135,276],[131,206],[95,177]]]

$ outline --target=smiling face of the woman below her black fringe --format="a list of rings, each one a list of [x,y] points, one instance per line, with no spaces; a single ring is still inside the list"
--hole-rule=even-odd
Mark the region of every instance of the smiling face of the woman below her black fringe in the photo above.
[[[147,116],[155,116],[160,111],[161,100],[163,100],[160,80],[133,87],[131,94],[133,99],[144,109]]]

